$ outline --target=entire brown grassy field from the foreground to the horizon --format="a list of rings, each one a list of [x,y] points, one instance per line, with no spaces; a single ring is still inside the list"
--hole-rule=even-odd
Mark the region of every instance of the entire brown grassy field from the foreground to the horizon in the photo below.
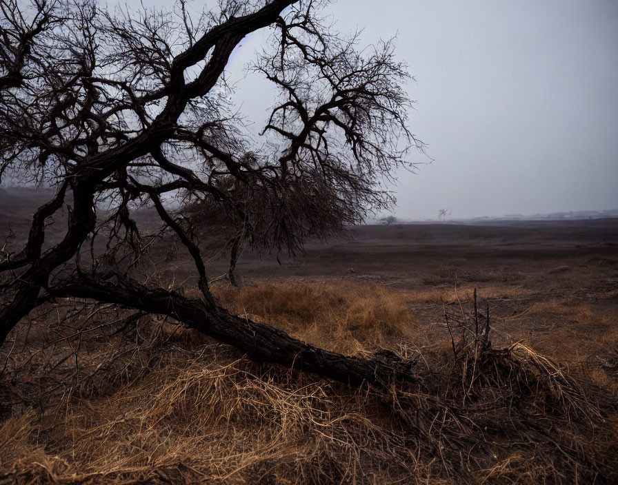
[[[0,483],[618,481],[617,221],[350,236],[281,265],[246,254],[217,297],[341,353],[406,355],[417,389],[353,390],[163,316],[56,302],[0,350]],[[213,276],[224,263],[212,249]],[[158,271],[195,291],[183,254]]]

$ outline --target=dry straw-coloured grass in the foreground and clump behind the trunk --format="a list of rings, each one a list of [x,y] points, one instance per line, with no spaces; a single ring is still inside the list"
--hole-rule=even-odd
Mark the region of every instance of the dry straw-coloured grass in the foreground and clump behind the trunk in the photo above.
[[[464,302],[467,291],[458,289]],[[426,296],[410,291],[297,282],[221,287],[218,296],[346,353],[410,351],[422,339],[410,305]],[[115,327],[101,327],[88,342],[81,333],[48,347],[76,328],[118,320],[115,311],[70,316],[66,329],[60,319],[39,320],[30,347],[20,349],[18,339],[0,382],[10,402],[0,424],[0,483],[618,480],[618,413],[607,389],[529,344],[495,349],[458,305],[448,310],[454,340],[445,329],[442,350],[417,355],[419,386],[390,394],[259,365],[165,320],[141,318],[115,336]],[[549,302],[526,316],[592,322],[594,313],[579,302]],[[75,353],[78,341],[88,348]],[[607,373],[595,371],[602,384]]]

